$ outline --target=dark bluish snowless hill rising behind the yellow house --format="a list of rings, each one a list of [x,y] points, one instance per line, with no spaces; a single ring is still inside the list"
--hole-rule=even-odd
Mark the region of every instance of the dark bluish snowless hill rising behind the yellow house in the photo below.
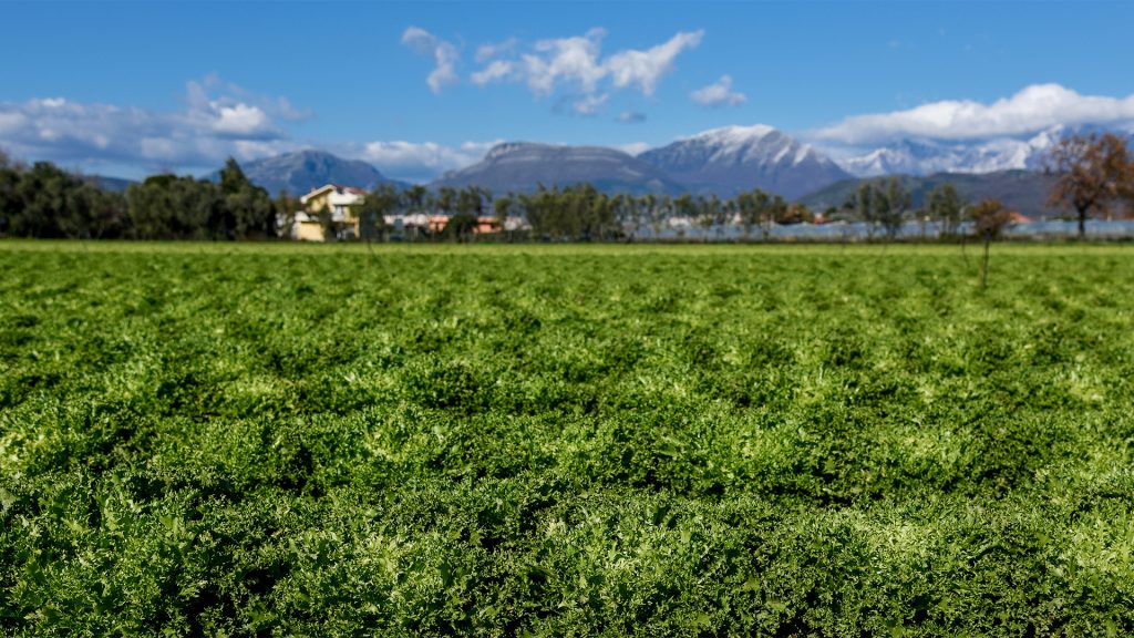
[[[312,188],[325,184],[355,186],[371,190],[379,184],[400,182],[388,179],[373,166],[362,160],[348,160],[324,151],[297,151],[270,158],[252,160],[240,165],[248,181],[265,188],[272,196],[287,190],[293,195],[303,195]],[[213,173],[210,179],[218,179]]]

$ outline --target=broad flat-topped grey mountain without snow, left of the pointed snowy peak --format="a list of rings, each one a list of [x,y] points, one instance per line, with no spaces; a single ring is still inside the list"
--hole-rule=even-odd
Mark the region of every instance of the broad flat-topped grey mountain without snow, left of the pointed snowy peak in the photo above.
[[[447,173],[430,187],[477,185],[499,194],[532,192],[540,184],[551,187],[584,182],[611,193],[665,194],[683,190],[662,170],[615,149],[534,143],[498,144],[480,162]]]

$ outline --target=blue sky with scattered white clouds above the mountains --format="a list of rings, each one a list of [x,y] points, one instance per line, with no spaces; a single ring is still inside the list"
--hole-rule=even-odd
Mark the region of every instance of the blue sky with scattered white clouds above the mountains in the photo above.
[[[768,124],[857,148],[1134,121],[1131,2],[0,10],[0,146],[132,177],[299,148],[426,179],[503,140],[641,150]]]

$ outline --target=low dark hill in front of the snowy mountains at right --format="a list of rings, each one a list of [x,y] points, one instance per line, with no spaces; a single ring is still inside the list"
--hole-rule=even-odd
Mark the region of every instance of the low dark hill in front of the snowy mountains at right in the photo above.
[[[902,181],[903,187],[909,191],[914,208],[921,208],[925,203],[926,194],[933,188],[945,183],[953,183],[957,187],[957,193],[968,201],[996,198],[1009,209],[1032,218],[1066,215],[1066,211],[1048,208],[1046,202],[1055,177],[1042,173],[1001,170],[982,175],[938,173],[925,177],[912,175],[896,177]],[[875,179],[879,178],[844,179],[801,198],[799,202],[815,211],[828,207],[839,208],[858,188],[858,184]]]

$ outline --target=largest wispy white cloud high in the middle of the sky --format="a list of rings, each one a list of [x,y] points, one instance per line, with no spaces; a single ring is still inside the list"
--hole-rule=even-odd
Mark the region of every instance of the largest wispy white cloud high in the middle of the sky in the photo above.
[[[518,53],[514,52],[519,48],[516,41],[508,41],[507,47],[482,47],[477,60],[486,64],[471,79],[481,86],[524,84],[536,98],[565,92],[573,112],[596,115],[611,91],[636,89],[643,95],[652,95],[661,79],[672,72],[677,57],[697,47],[704,32],[679,32],[650,49],[627,49],[603,57],[606,35],[604,30],[592,28],[583,35],[540,40]]]

